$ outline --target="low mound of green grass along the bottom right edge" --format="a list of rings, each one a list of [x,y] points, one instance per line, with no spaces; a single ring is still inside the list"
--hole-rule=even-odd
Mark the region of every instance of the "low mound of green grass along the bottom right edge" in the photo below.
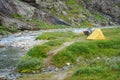
[[[112,71],[105,67],[81,67],[64,80],[119,80],[119,71]]]

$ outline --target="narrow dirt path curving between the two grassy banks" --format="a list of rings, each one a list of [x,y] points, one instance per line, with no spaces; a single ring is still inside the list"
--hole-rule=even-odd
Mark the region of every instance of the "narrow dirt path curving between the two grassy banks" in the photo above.
[[[52,57],[57,54],[60,50],[66,48],[67,46],[73,44],[74,42],[66,42],[66,43],[63,43],[60,47],[58,47],[57,49],[54,49],[54,50],[51,50],[49,51],[47,54],[48,54],[48,57],[46,59],[44,59],[44,64],[46,67],[52,67],[53,66],[53,63],[51,62],[51,59]]]

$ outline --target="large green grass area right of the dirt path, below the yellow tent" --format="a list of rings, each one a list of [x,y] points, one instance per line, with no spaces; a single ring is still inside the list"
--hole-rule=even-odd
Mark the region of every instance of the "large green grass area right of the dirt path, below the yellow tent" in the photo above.
[[[63,67],[67,62],[78,64],[64,80],[120,79],[120,28],[102,31],[107,40],[77,42],[54,56],[57,67]]]

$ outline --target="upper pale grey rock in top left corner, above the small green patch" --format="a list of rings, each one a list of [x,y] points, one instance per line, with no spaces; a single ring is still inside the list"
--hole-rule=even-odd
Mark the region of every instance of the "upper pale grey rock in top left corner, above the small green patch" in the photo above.
[[[19,0],[0,0],[0,12],[3,15],[20,14],[22,16],[32,17],[34,9],[34,7]]]

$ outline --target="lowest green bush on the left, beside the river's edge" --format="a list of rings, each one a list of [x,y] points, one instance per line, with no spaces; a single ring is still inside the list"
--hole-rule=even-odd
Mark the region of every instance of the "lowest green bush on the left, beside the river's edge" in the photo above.
[[[19,72],[32,72],[32,70],[39,70],[43,64],[40,59],[32,58],[30,56],[24,56],[17,64],[17,70]]]

